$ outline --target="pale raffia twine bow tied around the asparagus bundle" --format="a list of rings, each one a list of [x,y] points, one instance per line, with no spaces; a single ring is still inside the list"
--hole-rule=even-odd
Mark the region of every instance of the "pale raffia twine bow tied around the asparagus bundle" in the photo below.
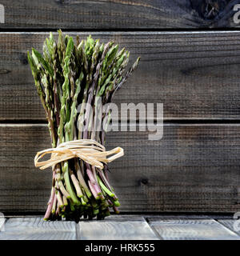
[[[51,154],[50,159],[39,162],[46,154]],[[106,158],[109,155],[112,156]],[[117,158],[121,158],[123,155],[124,151],[121,147],[106,151],[104,146],[92,139],[80,139],[63,142],[55,148],[39,151],[34,158],[34,164],[36,167],[44,170],[50,166],[54,167],[59,162],[64,162],[72,158],[80,158],[91,166],[102,169],[102,162],[112,162]]]

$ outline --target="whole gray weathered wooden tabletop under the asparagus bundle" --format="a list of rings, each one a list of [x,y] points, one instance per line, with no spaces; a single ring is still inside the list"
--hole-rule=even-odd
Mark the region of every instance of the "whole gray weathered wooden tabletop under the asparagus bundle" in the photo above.
[[[206,215],[120,215],[78,224],[22,216],[1,223],[0,240],[240,240],[236,220]]]

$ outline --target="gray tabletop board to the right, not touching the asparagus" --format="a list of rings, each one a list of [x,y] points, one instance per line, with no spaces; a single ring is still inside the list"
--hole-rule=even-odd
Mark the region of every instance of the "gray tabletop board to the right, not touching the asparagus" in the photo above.
[[[150,226],[164,240],[240,240],[225,226],[204,218],[154,218]]]

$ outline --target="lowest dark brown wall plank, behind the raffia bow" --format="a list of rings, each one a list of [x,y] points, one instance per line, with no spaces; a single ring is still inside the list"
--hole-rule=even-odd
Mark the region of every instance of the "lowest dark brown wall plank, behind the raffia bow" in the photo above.
[[[0,126],[0,211],[43,211],[51,171],[34,168],[34,154],[50,147],[46,125]],[[238,202],[240,125],[164,126],[148,132],[111,132],[107,148],[125,157],[110,164],[122,212],[225,212]]]

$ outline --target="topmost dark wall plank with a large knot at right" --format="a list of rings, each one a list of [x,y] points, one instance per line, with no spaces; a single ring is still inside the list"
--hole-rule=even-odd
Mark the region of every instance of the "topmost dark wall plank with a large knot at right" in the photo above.
[[[2,28],[169,29],[236,26],[238,0],[2,0]]]

